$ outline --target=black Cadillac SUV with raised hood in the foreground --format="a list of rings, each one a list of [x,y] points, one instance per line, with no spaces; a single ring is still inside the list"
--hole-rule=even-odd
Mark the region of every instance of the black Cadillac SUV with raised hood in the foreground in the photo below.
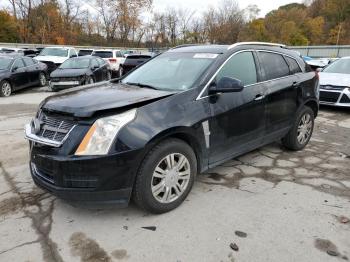
[[[179,206],[196,174],[282,140],[303,149],[318,75],[283,45],[180,46],[44,100],[25,128],[34,182],[71,202]]]

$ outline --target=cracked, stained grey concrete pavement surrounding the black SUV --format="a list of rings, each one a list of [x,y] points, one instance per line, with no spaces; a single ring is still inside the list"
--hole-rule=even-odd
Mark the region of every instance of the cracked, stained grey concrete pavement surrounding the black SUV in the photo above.
[[[150,215],[72,207],[33,184],[23,126],[49,95],[0,98],[0,261],[350,259],[350,109],[322,107],[304,151],[274,143],[228,161]]]

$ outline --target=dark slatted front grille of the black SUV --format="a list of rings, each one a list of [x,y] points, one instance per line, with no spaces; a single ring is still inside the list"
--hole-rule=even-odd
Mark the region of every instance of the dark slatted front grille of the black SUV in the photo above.
[[[72,121],[47,116],[43,112],[39,115],[39,121],[40,131],[37,136],[56,142],[62,142],[74,127]]]

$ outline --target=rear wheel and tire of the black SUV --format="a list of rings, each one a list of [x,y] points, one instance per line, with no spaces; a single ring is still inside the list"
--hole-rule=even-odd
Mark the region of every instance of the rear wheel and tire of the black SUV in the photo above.
[[[292,129],[282,139],[283,145],[293,151],[302,150],[310,141],[314,129],[314,111],[303,106],[295,118]]]

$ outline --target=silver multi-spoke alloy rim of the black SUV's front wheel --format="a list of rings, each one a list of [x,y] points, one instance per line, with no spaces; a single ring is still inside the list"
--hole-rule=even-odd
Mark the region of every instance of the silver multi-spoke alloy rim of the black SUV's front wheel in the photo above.
[[[186,191],[190,178],[191,167],[188,159],[180,153],[167,155],[153,172],[153,197],[163,204],[175,201]]]

